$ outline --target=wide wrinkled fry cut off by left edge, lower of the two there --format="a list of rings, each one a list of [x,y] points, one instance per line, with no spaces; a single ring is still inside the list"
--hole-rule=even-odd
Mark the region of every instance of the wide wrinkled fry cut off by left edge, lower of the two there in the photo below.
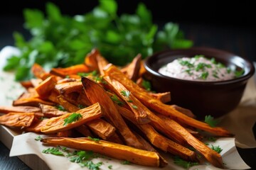
[[[28,127],[34,118],[34,113],[7,113],[0,116],[0,124],[11,127]]]

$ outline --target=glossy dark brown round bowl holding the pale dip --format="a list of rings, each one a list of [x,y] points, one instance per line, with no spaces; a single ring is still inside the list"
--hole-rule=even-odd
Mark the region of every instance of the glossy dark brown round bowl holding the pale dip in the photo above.
[[[226,81],[188,81],[166,77],[158,69],[179,57],[193,57],[205,55],[214,57],[227,67],[237,70],[244,69],[241,77]],[[252,62],[230,52],[209,47],[192,47],[182,50],[166,50],[146,58],[145,78],[151,81],[157,92],[171,92],[171,102],[191,110],[198,119],[203,120],[206,115],[214,118],[233,111],[238,106],[247,81],[255,72]]]

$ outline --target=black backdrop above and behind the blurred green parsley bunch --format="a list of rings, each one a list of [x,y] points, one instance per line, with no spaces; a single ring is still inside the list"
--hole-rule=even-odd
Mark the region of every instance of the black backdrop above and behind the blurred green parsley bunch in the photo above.
[[[0,49],[14,45],[14,30],[26,35],[23,28],[23,8],[45,11],[47,1],[4,1],[0,10]],[[97,6],[98,1],[52,1],[65,15],[84,14]],[[129,0],[118,3],[118,13],[134,13],[139,2],[152,13],[154,23],[178,23],[194,46],[210,46],[234,52],[256,61],[255,11],[252,1],[146,1]],[[232,42],[232,43],[231,43]],[[246,47],[245,47],[246,46]]]

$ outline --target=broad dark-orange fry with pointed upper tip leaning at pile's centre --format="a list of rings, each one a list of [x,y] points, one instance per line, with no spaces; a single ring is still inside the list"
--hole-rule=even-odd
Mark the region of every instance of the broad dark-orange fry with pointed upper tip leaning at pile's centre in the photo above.
[[[82,85],[84,86],[85,94],[90,102],[100,103],[105,118],[119,130],[119,133],[124,137],[126,144],[139,149],[143,148],[143,145],[137,140],[137,137],[124,122],[122,115],[117,111],[114,102],[107,95],[107,91],[105,91],[100,84],[97,84],[95,81],[87,79],[86,77],[82,77]]]

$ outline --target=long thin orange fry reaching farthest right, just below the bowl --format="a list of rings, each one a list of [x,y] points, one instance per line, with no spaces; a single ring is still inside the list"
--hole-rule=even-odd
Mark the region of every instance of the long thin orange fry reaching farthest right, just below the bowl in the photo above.
[[[199,120],[189,117],[177,111],[170,105],[166,105],[156,98],[153,98],[149,94],[144,91],[144,89],[140,88],[134,81],[128,79],[117,67],[114,65],[110,65],[110,67],[105,68],[105,76],[109,76],[111,79],[116,79],[121,82],[135,97],[137,97],[144,105],[153,111],[161,113],[163,115],[170,116],[174,120],[184,123],[186,125],[190,125],[191,127],[198,128],[201,130],[205,130],[206,132],[213,133],[218,136],[233,136],[228,130],[220,127],[210,127],[210,125],[203,123]]]

